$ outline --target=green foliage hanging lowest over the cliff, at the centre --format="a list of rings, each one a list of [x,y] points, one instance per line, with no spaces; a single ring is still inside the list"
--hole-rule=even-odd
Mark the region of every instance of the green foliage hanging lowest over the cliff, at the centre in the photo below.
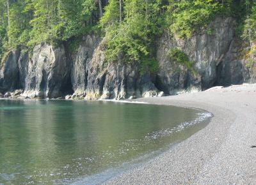
[[[150,49],[155,36],[161,33],[158,17],[160,8],[161,1],[127,0],[124,13],[120,15],[118,1],[111,0],[100,20],[108,41],[107,61],[122,58],[126,63],[140,63],[141,71],[156,71],[157,63],[152,59]]]

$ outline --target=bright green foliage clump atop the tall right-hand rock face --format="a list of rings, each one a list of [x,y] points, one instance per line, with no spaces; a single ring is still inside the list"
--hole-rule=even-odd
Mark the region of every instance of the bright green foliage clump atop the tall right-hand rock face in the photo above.
[[[212,18],[223,11],[213,0],[169,0],[166,23],[177,38],[190,38],[200,27],[206,27]]]

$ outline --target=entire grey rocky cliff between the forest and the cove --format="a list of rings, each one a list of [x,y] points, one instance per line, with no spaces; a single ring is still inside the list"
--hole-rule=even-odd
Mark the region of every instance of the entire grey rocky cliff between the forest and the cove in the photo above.
[[[159,71],[154,74],[142,74],[138,63],[125,64],[122,58],[107,63],[105,41],[95,35],[84,36],[72,54],[65,45],[54,48],[47,43],[37,45],[31,57],[28,52],[11,51],[1,66],[0,91],[22,89],[21,97],[25,98],[119,100],[256,82],[256,66],[246,67],[235,27],[232,18],[216,18],[208,31],[188,40],[163,34],[156,39]],[[170,48],[184,51],[194,63],[193,70],[172,61]]]

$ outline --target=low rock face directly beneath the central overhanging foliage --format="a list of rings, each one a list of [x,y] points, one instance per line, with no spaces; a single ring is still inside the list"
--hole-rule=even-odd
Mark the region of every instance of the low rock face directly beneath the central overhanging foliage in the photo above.
[[[157,94],[150,74],[141,75],[136,63],[109,63],[106,71],[102,99],[141,97],[147,91],[156,91]]]

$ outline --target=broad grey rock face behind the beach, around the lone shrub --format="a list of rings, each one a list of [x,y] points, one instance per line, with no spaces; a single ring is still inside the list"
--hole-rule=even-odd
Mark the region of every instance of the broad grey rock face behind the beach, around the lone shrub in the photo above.
[[[207,89],[216,84],[243,83],[243,64],[236,60],[235,22],[232,18],[216,18],[209,27],[212,34],[196,34],[188,40],[159,39],[157,59],[160,71],[157,74],[159,88],[175,94],[182,89],[196,87]],[[167,53],[170,48],[180,48],[195,62],[193,75],[186,67],[171,63]]]

